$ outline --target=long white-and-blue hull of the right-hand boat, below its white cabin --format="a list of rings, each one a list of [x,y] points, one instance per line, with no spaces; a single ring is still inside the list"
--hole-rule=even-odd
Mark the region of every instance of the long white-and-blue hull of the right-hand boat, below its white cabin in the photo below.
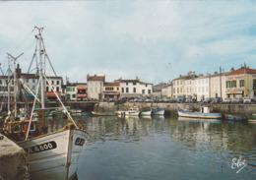
[[[178,109],[178,115],[182,117],[191,118],[204,118],[204,119],[221,119],[223,117],[222,113],[202,113],[202,112],[190,112]]]

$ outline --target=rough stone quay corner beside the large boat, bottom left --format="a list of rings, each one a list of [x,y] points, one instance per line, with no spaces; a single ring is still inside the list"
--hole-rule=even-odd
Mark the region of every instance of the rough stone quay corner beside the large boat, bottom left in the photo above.
[[[0,179],[29,180],[25,151],[0,134]]]

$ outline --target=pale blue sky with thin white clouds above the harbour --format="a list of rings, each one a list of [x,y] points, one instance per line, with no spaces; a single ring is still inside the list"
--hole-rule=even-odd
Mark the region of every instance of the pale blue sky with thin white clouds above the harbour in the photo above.
[[[249,0],[0,1],[0,63],[5,73],[7,53],[24,53],[18,63],[28,72],[37,26],[64,82],[89,74],[157,85],[190,71],[256,69],[255,19]]]

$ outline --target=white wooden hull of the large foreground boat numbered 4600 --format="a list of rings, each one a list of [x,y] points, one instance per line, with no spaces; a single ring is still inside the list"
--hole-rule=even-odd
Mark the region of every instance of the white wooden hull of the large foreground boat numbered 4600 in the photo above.
[[[61,130],[18,145],[30,152],[32,179],[63,180],[76,175],[86,139],[84,131]]]

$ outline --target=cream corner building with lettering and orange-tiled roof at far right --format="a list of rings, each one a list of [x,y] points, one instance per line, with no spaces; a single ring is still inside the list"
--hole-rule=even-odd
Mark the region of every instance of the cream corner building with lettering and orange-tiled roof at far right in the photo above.
[[[225,77],[226,96],[244,97],[256,96],[256,70],[241,66],[226,74]]]

